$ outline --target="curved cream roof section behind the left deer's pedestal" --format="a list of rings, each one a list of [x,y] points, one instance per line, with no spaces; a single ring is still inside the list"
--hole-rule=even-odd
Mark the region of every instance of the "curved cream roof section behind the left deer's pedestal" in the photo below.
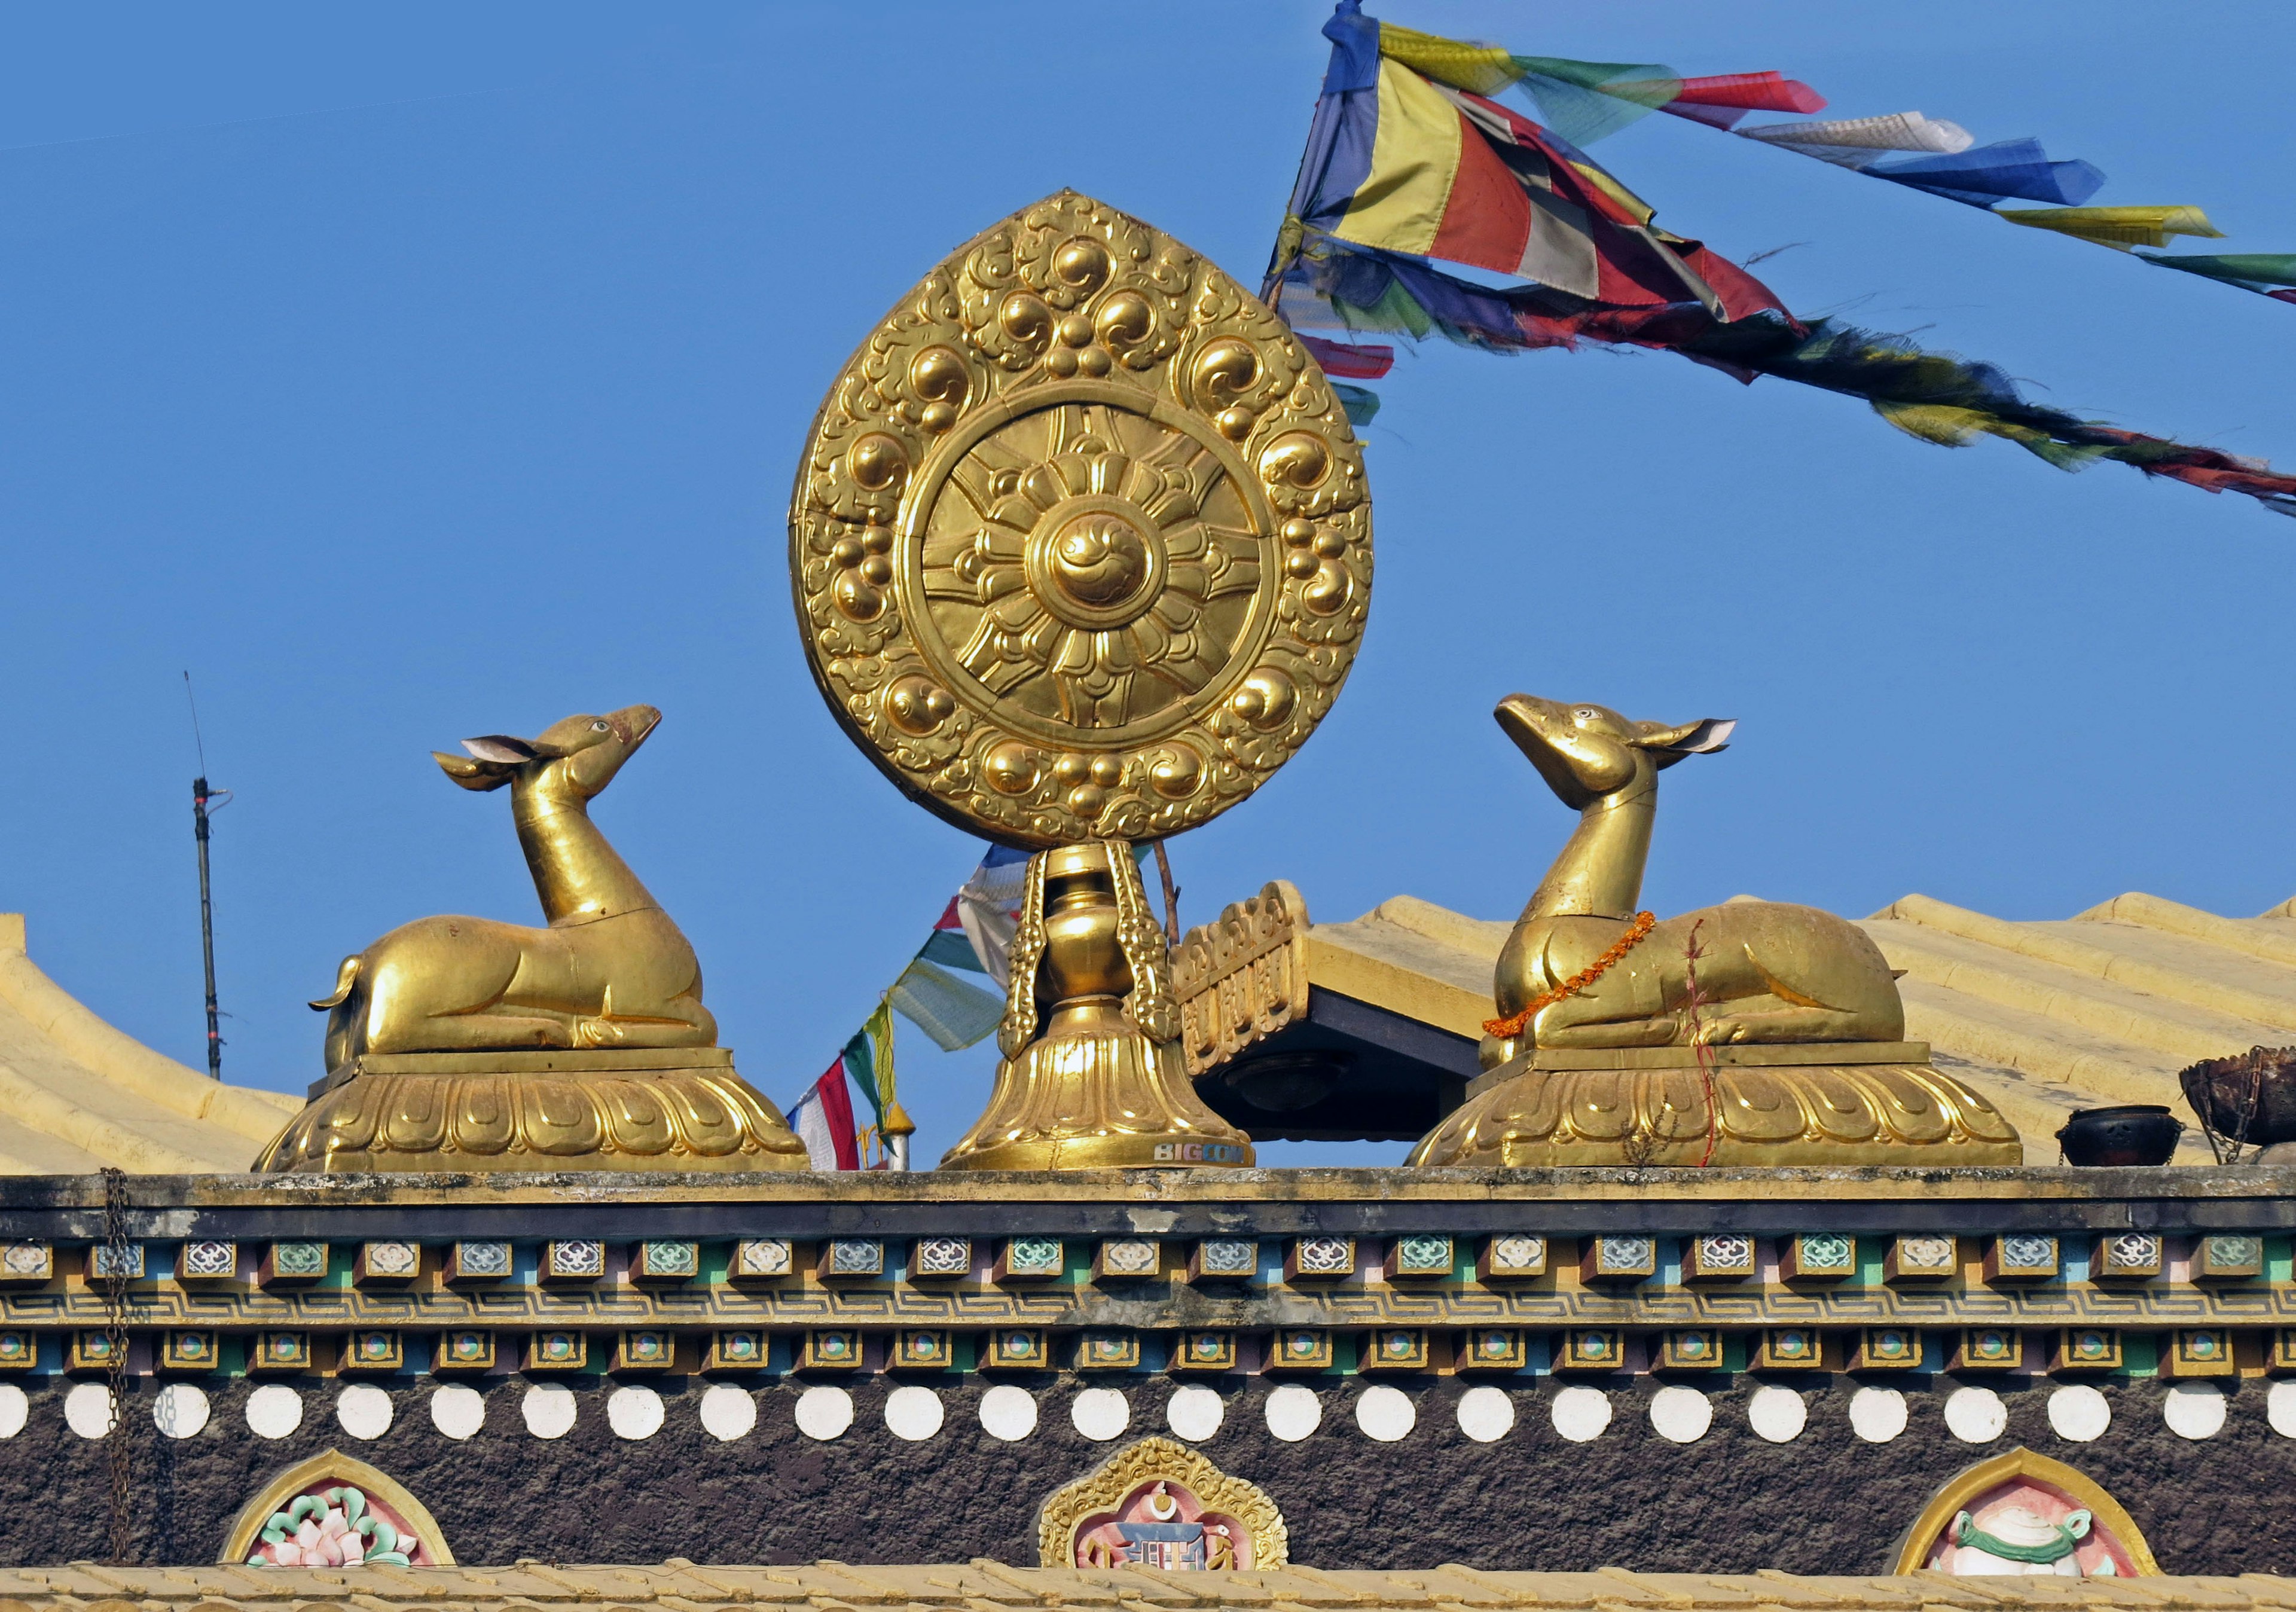
[[[0,1176],[241,1171],[303,1102],[225,1086],[115,1031],[0,912]]]

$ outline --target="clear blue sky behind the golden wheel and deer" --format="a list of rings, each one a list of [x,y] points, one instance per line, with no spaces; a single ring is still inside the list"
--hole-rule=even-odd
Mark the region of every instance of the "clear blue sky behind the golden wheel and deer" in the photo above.
[[[1371,7],[1380,11],[1378,5]],[[850,347],[948,248],[1077,186],[1256,278],[1320,5],[25,9],[0,18],[0,909],[110,1022],[202,1061],[195,772],[227,1075],[319,1070],[335,962],[432,912],[530,921],[503,797],[427,751],[654,703],[597,804],[703,955],[742,1070],[820,1072],[978,857],[843,739],[783,572]],[[2296,250],[2268,5],[1419,0],[1538,55],[1777,67],[1828,115],[2039,135],[2103,202]],[[2296,466],[2296,308],[1651,117],[1596,156],[1805,312]],[[1511,689],[1738,716],[1667,774],[1646,902],[2039,919],[2296,893],[2296,524],[1915,443],[1665,354],[1428,347],[1366,432],[1378,586],[1313,744],[1173,845],[1182,919],[1270,877],[1511,916],[1564,811]],[[921,1160],[987,1047],[902,1040]],[[1387,1160],[1398,1148],[1281,1162]]]

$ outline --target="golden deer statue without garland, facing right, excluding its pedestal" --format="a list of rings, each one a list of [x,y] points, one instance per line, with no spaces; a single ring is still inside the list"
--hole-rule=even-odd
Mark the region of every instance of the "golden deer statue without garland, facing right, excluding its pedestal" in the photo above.
[[[344,958],[335,992],[310,1003],[328,1015],[331,1070],[370,1052],[716,1045],[693,946],[590,822],[659,721],[629,705],[533,739],[464,739],[468,758],[432,751],[466,790],[510,785],[549,928],[416,919]]]

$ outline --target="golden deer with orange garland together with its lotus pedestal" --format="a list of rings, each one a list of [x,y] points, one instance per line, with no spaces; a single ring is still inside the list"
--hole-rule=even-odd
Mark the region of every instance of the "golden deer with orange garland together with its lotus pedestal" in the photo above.
[[[1495,712],[1577,831],[1515,921],[1483,1075],[1412,1164],[2016,1164],[2016,1127],[1901,1040],[1880,948],[1816,907],[1635,912],[1658,774],[1736,723],[1669,728],[1511,693]]]

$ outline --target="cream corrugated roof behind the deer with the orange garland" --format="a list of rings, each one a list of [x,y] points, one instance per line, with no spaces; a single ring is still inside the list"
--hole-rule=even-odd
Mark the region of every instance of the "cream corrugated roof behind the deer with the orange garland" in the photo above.
[[[1908,1040],[1984,1091],[2027,1160],[2073,1109],[2165,1102],[2190,1118],[2177,1070],[2257,1045],[2296,1045],[2296,902],[2220,919],[2117,896],[2073,919],[2011,923],[1906,896],[1862,921],[1903,969]],[[1350,923],[1306,928],[1309,983],[1481,1036],[1511,923],[1396,896]],[[2179,1162],[2206,1162],[2197,1130]]]

